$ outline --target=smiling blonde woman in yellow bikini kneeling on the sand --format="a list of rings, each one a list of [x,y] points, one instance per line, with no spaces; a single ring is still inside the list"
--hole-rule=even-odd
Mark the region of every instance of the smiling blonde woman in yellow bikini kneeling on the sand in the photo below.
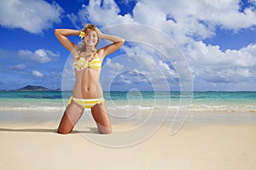
[[[78,46],[71,42],[67,38],[68,36],[81,37],[81,45]],[[84,108],[90,108],[100,133],[111,133],[112,127],[99,79],[102,60],[105,56],[120,48],[124,44],[125,39],[103,34],[96,26],[91,24],[85,25],[81,31],[55,29],[55,37],[73,54],[76,77],[73,96],[69,100],[66,111],[62,116],[58,133],[71,133],[74,125],[82,116]],[[96,45],[101,38],[113,43],[97,50]]]

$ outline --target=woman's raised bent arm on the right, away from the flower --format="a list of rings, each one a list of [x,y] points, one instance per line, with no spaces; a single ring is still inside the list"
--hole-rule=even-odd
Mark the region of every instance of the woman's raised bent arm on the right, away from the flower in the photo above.
[[[108,35],[108,34],[103,34],[101,31],[99,31],[99,37],[113,42],[113,43],[109,44],[108,46],[101,48],[99,50],[101,52],[102,59],[106,55],[112,54],[114,51],[116,51],[118,48],[120,48],[125,43],[124,38],[113,36],[113,35]]]

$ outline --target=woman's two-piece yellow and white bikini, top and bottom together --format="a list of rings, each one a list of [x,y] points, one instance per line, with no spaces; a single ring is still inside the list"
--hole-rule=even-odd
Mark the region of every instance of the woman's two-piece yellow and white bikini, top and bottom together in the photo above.
[[[86,68],[90,68],[96,71],[101,70],[102,68],[102,62],[100,58],[92,59],[90,62],[87,62],[84,58],[80,58],[79,60],[75,61],[75,68],[77,71],[82,71]],[[77,104],[83,106],[84,108],[91,108],[92,106],[96,104],[102,104],[102,102],[105,100],[103,97],[99,99],[78,99],[73,98],[73,96],[68,100],[67,105],[70,105],[71,101],[76,102]]]

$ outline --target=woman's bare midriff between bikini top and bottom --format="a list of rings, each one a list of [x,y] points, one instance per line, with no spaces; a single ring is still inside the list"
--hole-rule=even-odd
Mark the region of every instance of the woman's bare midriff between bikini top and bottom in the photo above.
[[[79,99],[102,98],[102,85],[99,81],[100,72],[90,68],[75,71],[76,82],[73,88],[73,97]]]

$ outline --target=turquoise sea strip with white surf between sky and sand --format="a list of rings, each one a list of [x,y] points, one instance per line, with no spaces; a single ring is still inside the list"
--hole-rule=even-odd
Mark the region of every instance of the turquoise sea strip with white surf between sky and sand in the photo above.
[[[65,108],[71,92],[0,91],[0,111],[38,110],[59,111]],[[104,92],[108,108],[177,110],[186,105],[190,111],[250,111],[256,112],[256,92]]]

